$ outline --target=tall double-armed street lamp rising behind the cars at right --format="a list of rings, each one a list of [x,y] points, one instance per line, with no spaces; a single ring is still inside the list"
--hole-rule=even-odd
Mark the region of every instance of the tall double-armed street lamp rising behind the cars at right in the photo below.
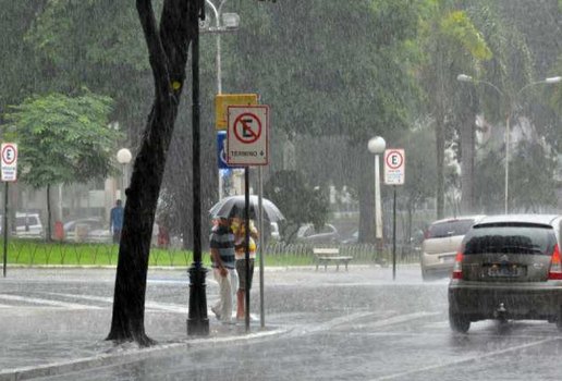
[[[534,85],[540,85],[540,84],[546,84],[546,85],[552,85],[552,84],[558,84],[560,82],[562,82],[562,77],[561,76],[553,76],[553,77],[548,77],[548,78],[545,78],[542,81],[537,81],[537,82],[532,82],[530,84],[527,84],[525,86],[523,86],[517,93],[515,93],[515,96],[513,97],[510,97],[508,94],[505,94],[504,91],[502,91],[498,86],[493,85],[492,83],[490,82],[487,82],[487,81],[481,81],[481,79],[474,79],[472,76],[469,75],[466,75],[466,74],[459,74],[457,77],[456,77],[456,81],[460,81],[460,82],[469,82],[469,83],[474,83],[474,84],[484,84],[484,85],[487,85],[487,86],[490,86],[491,88],[493,88],[501,97],[505,98],[508,100],[508,111],[506,111],[506,115],[505,115],[505,179],[504,179],[504,210],[505,210],[505,214],[508,214],[509,212],[509,187],[510,187],[510,145],[511,145],[511,142],[510,142],[510,123],[511,123],[511,115],[513,113],[513,110],[515,109],[515,100],[517,99],[517,97],[520,96],[521,93],[523,93],[523,90],[525,90],[526,88],[530,87],[530,86],[534,86]]]

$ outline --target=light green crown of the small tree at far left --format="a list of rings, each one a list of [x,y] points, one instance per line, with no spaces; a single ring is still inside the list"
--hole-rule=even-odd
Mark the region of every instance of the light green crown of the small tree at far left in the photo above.
[[[85,91],[35,96],[12,107],[4,139],[19,144],[20,176],[35,188],[106,177],[121,134],[108,126],[112,100]]]

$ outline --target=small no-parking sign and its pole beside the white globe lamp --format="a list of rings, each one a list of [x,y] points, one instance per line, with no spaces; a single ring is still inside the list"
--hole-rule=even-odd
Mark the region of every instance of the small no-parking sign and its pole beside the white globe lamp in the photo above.
[[[405,180],[406,156],[404,149],[391,148],[384,151],[384,184],[392,185],[392,280],[396,279],[396,185]]]

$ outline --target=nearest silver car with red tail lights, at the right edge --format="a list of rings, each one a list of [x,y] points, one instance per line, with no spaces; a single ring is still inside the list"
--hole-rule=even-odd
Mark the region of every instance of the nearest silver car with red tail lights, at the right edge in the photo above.
[[[533,319],[562,330],[561,216],[487,217],[463,239],[449,284],[449,321]]]

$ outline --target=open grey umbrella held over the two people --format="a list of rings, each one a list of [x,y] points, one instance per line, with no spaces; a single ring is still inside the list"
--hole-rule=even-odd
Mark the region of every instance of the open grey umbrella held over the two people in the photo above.
[[[244,218],[246,200],[244,195],[239,196],[230,196],[224,197],[219,202],[215,204],[212,208],[210,208],[209,212],[212,217],[225,217],[233,218],[240,217]],[[258,210],[258,196],[251,195],[249,196],[249,218],[256,219]],[[261,208],[264,210],[265,218],[271,222],[277,222],[279,220],[284,220],[283,213],[279,210],[279,208],[268,200],[267,198],[261,198]]]

